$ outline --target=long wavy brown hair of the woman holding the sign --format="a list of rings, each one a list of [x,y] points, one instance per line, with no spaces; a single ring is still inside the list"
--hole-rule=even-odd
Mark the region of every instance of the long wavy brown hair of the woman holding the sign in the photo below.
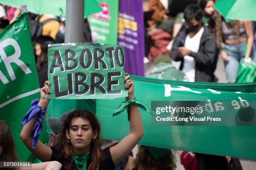
[[[58,146],[59,150],[61,150],[60,157],[64,159],[63,168],[65,170],[72,170],[74,150],[72,148],[72,144],[67,140],[66,130],[69,132],[71,122],[75,117],[81,117],[88,120],[92,126],[92,130],[94,132],[97,130],[98,132],[97,138],[93,142],[91,141],[91,163],[88,167],[88,170],[98,170],[104,158],[104,153],[101,149],[102,140],[100,138],[100,123],[95,114],[86,110],[74,110],[63,121],[60,137],[61,143]]]

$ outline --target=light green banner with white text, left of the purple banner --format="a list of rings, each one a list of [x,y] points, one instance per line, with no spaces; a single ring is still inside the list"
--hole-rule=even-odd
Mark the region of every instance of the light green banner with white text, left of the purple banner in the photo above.
[[[118,0],[99,0],[103,12],[88,17],[92,42],[117,45]]]

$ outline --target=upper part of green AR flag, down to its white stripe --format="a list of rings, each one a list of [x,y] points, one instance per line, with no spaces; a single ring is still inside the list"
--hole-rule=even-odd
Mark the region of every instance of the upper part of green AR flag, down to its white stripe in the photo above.
[[[32,49],[23,13],[0,34],[0,108],[40,91]]]

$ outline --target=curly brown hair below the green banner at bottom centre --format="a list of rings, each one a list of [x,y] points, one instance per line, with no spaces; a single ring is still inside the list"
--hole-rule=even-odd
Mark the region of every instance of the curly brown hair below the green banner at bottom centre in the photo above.
[[[133,170],[174,170],[175,168],[172,150],[164,157],[155,160],[146,146],[143,145],[138,150],[136,159],[133,162]]]

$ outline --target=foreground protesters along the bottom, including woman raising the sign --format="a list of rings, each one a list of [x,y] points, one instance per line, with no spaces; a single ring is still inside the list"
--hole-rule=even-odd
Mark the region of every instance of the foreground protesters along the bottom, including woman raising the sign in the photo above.
[[[128,89],[126,100],[134,99],[134,82],[128,74],[124,79]],[[129,107],[130,133],[120,142],[102,149],[100,123],[95,114],[87,110],[70,110],[59,118],[46,118],[53,131],[48,144],[38,140],[38,123],[46,113],[51,83],[46,81],[41,88],[40,100],[33,100],[25,115],[20,138],[26,147],[42,163],[32,164],[33,170],[175,170],[176,151],[140,145],[136,158],[132,149],[143,137],[143,125],[138,107]],[[241,170],[238,159],[191,153],[177,150],[185,170]],[[4,121],[0,121],[0,161],[17,161],[12,133]],[[235,164],[234,164],[235,163]],[[30,167],[31,168],[31,167]],[[22,167],[21,170],[29,170]],[[7,168],[5,168],[7,169]],[[12,168],[16,170],[15,168]]]

